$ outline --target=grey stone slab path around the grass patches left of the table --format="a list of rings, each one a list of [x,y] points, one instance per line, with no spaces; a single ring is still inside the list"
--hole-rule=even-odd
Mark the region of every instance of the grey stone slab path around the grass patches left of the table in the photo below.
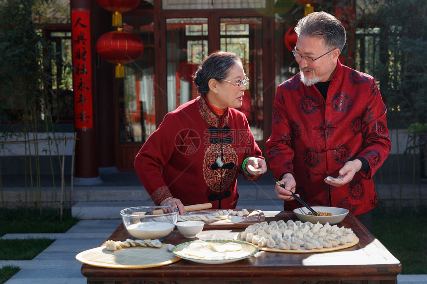
[[[56,238],[32,260],[0,260],[0,267],[13,265],[21,269],[6,284],[85,284],[86,278],[80,272],[82,263],[75,256],[100,246],[120,224],[120,220],[79,221],[65,233],[4,235],[2,238]]]

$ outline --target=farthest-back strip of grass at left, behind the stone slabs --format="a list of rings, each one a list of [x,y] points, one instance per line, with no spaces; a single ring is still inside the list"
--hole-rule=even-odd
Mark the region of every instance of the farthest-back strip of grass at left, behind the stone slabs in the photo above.
[[[0,208],[0,236],[6,233],[63,233],[78,222],[65,210],[63,220],[55,209]]]

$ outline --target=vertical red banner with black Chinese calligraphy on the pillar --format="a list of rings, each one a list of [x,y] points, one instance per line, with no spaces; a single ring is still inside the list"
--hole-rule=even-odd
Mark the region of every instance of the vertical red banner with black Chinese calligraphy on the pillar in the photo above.
[[[71,23],[74,127],[87,129],[93,127],[89,10],[72,10]]]

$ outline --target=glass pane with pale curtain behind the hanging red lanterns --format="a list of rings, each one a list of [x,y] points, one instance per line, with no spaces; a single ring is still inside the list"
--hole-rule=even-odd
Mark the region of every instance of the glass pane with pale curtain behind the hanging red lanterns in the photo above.
[[[120,142],[144,142],[154,132],[154,50],[153,16],[142,25],[124,24],[126,31],[138,35],[144,45],[142,56],[125,64],[125,78],[119,83],[119,133]],[[127,23],[129,18],[124,18]]]

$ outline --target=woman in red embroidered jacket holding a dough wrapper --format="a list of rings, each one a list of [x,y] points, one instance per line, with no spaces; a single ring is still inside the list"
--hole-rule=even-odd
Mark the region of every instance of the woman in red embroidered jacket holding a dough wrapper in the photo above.
[[[247,82],[233,53],[215,52],[202,62],[194,78],[200,96],[166,114],[135,159],[154,204],[181,215],[191,204],[234,209],[237,175],[256,180],[267,170],[245,115],[235,110]]]

